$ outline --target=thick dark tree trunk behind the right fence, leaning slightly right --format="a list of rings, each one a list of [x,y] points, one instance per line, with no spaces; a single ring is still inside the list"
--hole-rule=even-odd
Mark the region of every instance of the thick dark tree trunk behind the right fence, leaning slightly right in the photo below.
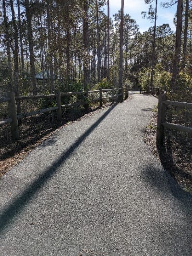
[[[182,32],[182,12],[183,0],[177,2],[177,26],[176,26],[176,40],[175,40],[175,54],[173,60],[173,73],[171,77],[171,86],[173,90],[177,90],[177,76],[180,68],[180,51],[181,51],[181,32]]]

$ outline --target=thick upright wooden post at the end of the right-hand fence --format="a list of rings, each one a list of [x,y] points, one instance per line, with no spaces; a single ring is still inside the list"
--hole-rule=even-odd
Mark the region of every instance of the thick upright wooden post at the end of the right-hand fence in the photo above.
[[[162,91],[159,94],[158,100],[158,114],[157,114],[157,130],[156,130],[156,145],[163,146],[164,140],[164,126],[162,125],[165,122],[166,115],[166,105],[163,103],[167,99],[166,92]]]

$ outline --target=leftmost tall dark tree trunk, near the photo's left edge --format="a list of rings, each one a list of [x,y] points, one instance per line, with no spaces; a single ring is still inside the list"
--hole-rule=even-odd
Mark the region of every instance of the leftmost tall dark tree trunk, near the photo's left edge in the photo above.
[[[8,91],[12,91],[12,62],[11,62],[11,50],[10,50],[10,35],[9,35],[9,27],[7,23],[5,0],[2,1],[2,9],[3,9],[3,21],[5,24],[5,43],[6,43],[6,50],[7,50],[8,70],[10,75],[10,81],[8,83],[7,89]]]

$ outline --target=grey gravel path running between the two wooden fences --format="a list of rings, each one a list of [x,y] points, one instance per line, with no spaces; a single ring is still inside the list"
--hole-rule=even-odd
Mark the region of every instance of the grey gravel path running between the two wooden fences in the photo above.
[[[152,96],[61,128],[0,179],[0,256],[191,256],[192,198],[143,142]]]

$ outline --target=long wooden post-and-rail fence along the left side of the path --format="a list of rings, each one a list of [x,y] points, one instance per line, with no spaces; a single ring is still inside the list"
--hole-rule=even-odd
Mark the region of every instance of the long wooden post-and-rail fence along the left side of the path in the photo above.
[[[90,99],[90,101],[91,102],[99,101],[99,106],[100,107],[103,106],[103,99],[111,98],[112,100],[114,100],[115,98],[124,95],[124,93],[125,93],[125,98],[127,98],[129,96],[128,88],[123,88],[121,94],[116,94],[115,95],[115,91],[119,92],[120,89],[121,88],[117,88],[117,89],[114,89],[114,88],[112,88],[112,89],[102,89],[102,88],[100,88],[99,90],[95,90],[95,91],[65,92],[65,93],[60,92],[60,91],[57,90],[55,92],[55,94],[36,95],[36,96],[20,96],[20,97],[15,97],[14,92],[8,92],[6,97],[0,98],[0,103],[8,102],[9,118],[0,121],[0,126],[10,123],[12,139],[13,140],[18,140],[19,139],[18,120],[20,120],[24,117],[34,116],[34,115],[37,115],[37,114],[42,114],[42,113],[57,110],[57,120],[61,121],[61,115],[62,115],[62,109],[63,108],[69,108],[69,107],[73,107],[73,106],[77,106],[77,105],[84,105],[84,107],[86,108],[86,106],[85,106],[85,105],[87,105],[86,98],[87,98],[87,96],[89,97],[89,94],[99,93],[99,98]],[[102,94],[103,92],[110,92],[110,91],[112,92],[112,96],[103,97],[103,94]],[[61,105],[61,97],[63,97],[63,96],[72,96],[72,95],[82,95],[82,96],[84,96],[84,99],[82,99],[82,101],[77,101],[75,103]],[[53,98],[53,99],[55,99],[57,106],[42,109],[42,110],[17,114],[17,110],[16,110],[16,102],[17,101],[31,100],[31,99],[36,100],[36,99],[42,99],[42,98]]]

